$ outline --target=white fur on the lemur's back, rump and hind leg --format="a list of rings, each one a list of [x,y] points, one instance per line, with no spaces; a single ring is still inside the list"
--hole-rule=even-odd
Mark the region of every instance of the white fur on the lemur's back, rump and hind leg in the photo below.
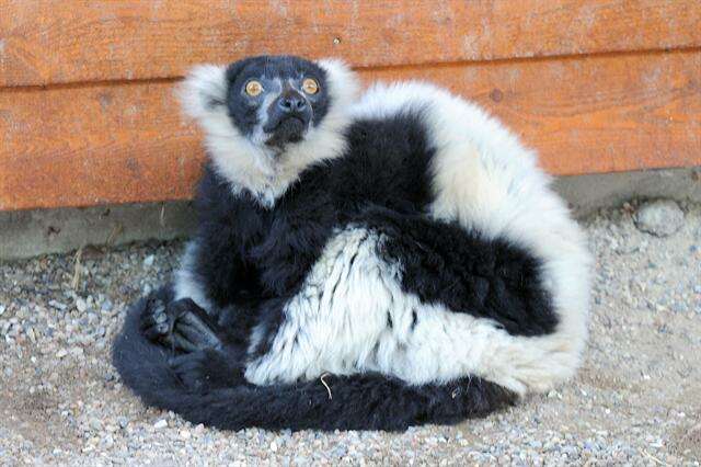
[[[352,113],[387,117],[406,111],[422,112],[437,149],[433,216],[485,238],[508,239],[539,258],[542,286],[560,318],[555,332],[510,335],[491,320],[422,304],[401,291],[401,264],[377,258],[382,239],[349,227],[326,246],[287,304],[271,351],[249,364],[246,378],[271,384],[379,371],[423,384],[476,375],[520,395],[570,378],[587,338],[591,259],[582,230],[549,189],[535,155],[473,104],[406,82],[374,87]],[[251,350],[256,345],[254,340]]]

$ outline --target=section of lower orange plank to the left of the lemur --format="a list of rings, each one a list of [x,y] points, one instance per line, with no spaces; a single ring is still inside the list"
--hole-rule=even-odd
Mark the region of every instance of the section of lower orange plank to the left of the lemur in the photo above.
[[[0,210],[186,197],[202,155],[172,86],[0,90]]]

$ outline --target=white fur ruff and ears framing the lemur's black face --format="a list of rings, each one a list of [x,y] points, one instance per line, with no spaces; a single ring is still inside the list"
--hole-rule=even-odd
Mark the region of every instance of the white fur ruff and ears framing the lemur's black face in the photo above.
[[[204,129],[205,146],[215,168],[235,193],[245,189],[269,208],[302,170],[343,153],[346,147],[343,133],[348,125],[345,110],[357,98],[357,79],[342,61],[327,59],[317,64],[326,71],[331,105],[319,126],[310,127],[302,141],[288,145],[278,156],[260,141],[241,135],[230,121],[225,66],[196,67],[183,82],[179,90],[183,109]]]

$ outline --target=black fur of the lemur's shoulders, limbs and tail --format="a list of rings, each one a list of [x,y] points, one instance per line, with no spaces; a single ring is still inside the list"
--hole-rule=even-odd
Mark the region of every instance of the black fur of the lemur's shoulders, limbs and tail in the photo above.
[[[230,67],[230,90],[239,92],[250,65]],[[334,230],[348,225],[381,235],[378,254],[401,266],[404,292],[424,303],[490,318],[514,335],[547,334],[556,326],[540,265],[527,250],[425,215],[435,149],[421,113],[357,121],[347,140],[345,157],[306,170],[272,208],[245,191],[233,194],[205,168],[196,197],[194,273],[214,303],[208,326],[220,344],[215,349],[205,339],[189,342],[197,350],[187,351],[187,342],[173,345],[170,334],[153,343],[139,322],[146,315],[152,329],[162,318],[149,316],[153,307],[147,301],[137,304],[115,342],[114,362],[146,403],[222,429],[403,430],[482,417],[514,402],[516,395],[478,377],[411,386],[386,375],[327,375],[265,387],[243,378],[246,357],[269,350],[285,304],[300,292]],[[169,294],[161,291],[157,298],[172,306]],[[421,319],[414,310],[412,329]],[[246,355],[253,326],[265,332]]]

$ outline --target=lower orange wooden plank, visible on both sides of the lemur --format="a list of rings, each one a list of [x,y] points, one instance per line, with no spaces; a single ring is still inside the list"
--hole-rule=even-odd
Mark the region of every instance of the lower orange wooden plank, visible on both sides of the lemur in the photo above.
[[[368,70],[473,98],[556,174],[701,166],[701,53]],[[0,90],[0,209],[185,198],[202,161],[172,84]]]

